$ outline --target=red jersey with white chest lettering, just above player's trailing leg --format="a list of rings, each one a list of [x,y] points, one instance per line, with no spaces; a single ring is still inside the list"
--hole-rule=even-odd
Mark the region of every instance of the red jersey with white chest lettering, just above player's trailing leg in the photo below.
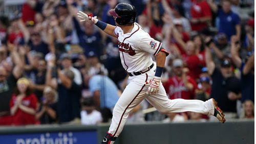
[[[188,82],[193,84],[194,89],[188,90],[183,83],[183,80],[174,76],[169,78],[169,80],[164,83],[164,88],[168,94],[169,99],[186,99],[193,100],[195,98],[195,89],[197,88],[197,83],[195,80],[187,77]]]

